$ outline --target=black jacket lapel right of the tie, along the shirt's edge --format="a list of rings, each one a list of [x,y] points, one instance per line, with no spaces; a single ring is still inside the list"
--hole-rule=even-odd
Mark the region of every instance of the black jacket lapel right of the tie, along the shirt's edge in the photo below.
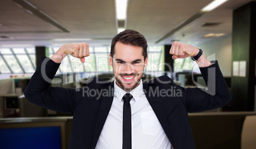
[[[154,88],[152,88],[154,89]],[[166,132],[166,136],[169,139],[169,141],[172,144],[172,136],[171,131],[169,129],[169,125],[166,118],[166,113],[164,112],[164,107],[162,106],[162,102],[160,101],[160,97],[155,97],[153,94],[150,94],[152,92],[152,89],[148,87],[146,83],[143,83],[143,90],[145,90],[146,98],[148,99],[148,102],[150,103],[150,106],[152,107],[155,115],[157,116],[160,124],[162,125],[162,128],[164,129],[164,132]],[[151,90],[151,91],[150,91]],[[155,90],[153,90],[154,92]]]

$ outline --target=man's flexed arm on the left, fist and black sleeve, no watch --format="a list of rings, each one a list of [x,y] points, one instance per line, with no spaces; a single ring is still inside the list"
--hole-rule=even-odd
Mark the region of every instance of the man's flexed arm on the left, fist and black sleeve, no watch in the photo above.
[[[89,46],[86,43],[68,43],[62,45],[50,59],[43,57],[24,92],[31,103],[54,111],[73,113],[82,94],[76,89],[50,87],[60,62],[68,54],[84,62],[84,57],[89,56]]]

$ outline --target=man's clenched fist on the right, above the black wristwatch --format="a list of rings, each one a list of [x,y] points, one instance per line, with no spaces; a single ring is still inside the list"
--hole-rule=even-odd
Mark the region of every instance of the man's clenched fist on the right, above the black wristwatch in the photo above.
[[[171,45],[170,54],[173,55],[173,59],[194,57],[199,52],[199,49],[195,46],[188,45],[174,41]]]

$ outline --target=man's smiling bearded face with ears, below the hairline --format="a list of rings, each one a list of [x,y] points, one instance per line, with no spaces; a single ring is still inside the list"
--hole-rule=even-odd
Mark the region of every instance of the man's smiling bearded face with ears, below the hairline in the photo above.
[[[115,45],[115,54],[110,55],[110,66],[117,85],[126,92],[136,88],[143,76],[144,67],[148,64],[148,57],[144,60],[143,48],[136,45],[125,45],[118,41]]]

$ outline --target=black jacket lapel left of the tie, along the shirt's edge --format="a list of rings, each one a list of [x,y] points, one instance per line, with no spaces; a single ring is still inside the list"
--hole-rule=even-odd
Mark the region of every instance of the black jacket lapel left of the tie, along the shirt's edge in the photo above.
[[[101,134],[101,131],[103,129],[103,125],[106,121],[106,118],[108,117],[108,113],[110,112],[110,108],[113,102],[113,88],[114,88],[114,82],[110,83],[110,90],[107,97],[102,97],[101,99],[101,106],[99,109],[99,114],[97,117],[96,127],[94,131],[94,138],[92,139],[92,148],[96,148],[97,141],[99,139],[99,135]]]

